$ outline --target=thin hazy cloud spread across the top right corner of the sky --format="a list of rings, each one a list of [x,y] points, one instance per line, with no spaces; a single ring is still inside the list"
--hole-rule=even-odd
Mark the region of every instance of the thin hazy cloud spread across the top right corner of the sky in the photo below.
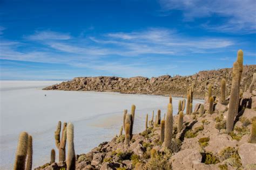
[[[160,0],[164,11],[180,10],[185,22],[192,22],[197,18],[223,17],[222,24],[211,22],[202,23],[207,30],[218,32],[256,32],[256,1],[254,0]]]

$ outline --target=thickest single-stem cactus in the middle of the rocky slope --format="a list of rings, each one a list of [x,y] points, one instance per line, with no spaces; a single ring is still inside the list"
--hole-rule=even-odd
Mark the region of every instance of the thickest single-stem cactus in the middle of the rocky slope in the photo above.
[[[165,134],[164,134],[164,146],[171,148],[172,142],[172,128],[173,128],[173,117],[172,117],[172,104],[168,104],[166,121],[165,121]]]

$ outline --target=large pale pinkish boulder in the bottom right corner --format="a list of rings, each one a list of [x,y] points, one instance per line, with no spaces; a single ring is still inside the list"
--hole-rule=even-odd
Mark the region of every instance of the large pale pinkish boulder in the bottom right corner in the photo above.
[[[256,144],[242,144],[238,149],[238,154],[241,158],[242,166],[247,167],[256,164]]]

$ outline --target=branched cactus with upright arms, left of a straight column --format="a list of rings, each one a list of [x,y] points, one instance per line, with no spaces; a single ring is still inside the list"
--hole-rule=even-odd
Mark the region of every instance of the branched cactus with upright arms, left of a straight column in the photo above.
[[[55,144],[59,150],[59,162],[66,159],[66,123],[63,124],[62,138],[60,138],[61,127],[62,122],[59,121],[55,131]]]

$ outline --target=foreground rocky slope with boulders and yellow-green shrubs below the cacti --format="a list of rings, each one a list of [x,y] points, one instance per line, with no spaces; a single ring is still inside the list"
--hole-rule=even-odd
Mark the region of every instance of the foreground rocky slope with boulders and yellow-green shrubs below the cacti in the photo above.
[[[228,105],[214,97],[213,114],[208,112],[207,100],[202,105],[203,114],[199,114],[198,104],[192,114],[184,115],[180,133],[178,115],[174,116],[171,150],[160,142],[160,125],[153,125],[133,134],[129,145],[121,134],[89,153],[77,155],[76,169],[256,169],[256,144],[248,142],[252,122],[256,121],[256,91],[242,94],[234,130],[228,134],[225,132]],[[37,169],[65,167],[65,162],[58,162]]]

